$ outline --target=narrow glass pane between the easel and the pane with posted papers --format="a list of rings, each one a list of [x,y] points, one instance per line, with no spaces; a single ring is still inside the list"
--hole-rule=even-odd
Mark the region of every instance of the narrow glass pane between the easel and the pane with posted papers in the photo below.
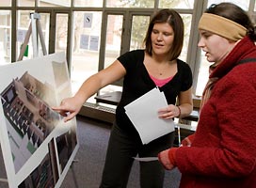
[[[68,37],[68,14],[56,14],[56,53],[66,52]]]

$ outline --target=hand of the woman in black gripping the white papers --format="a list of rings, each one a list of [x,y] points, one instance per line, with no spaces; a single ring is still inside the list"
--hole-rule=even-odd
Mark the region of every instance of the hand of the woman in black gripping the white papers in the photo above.
[[[178,106],[169,104],[165,108],[160,108],[158,110],[158,117],[159,118],[176,118],[180,116],[180,109]]]

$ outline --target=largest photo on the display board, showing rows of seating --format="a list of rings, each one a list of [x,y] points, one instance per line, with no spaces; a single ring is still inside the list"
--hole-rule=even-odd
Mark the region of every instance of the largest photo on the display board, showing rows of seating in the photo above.
[[[46,90],[53,89],[25,72],[21,79],[14,79],[1,93],[16,172],[40,147],[60,120],[47,102],[41,100]]]

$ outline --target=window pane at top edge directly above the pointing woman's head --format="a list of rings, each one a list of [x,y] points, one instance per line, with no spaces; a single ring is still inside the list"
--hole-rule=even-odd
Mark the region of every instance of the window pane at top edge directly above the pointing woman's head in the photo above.
[[[159,0],[159,8],[194,8],[194,0]]]

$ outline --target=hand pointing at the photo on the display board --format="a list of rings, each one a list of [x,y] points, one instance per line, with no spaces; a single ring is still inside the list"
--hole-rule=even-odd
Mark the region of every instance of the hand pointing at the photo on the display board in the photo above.
[[[52,109],[65,117],[64,122],[67,122],[78,114],[82,105],[76,98],[72,97],[62,100],[59,106],[53,106]]]

